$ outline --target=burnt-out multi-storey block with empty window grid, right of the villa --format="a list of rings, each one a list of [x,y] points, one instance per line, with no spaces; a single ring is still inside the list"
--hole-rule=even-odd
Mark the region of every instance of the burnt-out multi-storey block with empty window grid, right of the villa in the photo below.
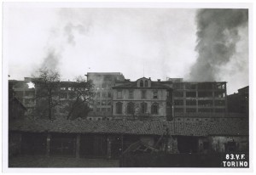
[[[181,78],[170,78],[161,83],[173,88],[175,118],[227,116],[226,82],[183,82]]]

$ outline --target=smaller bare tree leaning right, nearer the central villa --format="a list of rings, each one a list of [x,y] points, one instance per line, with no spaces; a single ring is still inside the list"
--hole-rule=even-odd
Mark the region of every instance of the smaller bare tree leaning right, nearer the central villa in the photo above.
[[[90,103],[92,103],[94,95],[92,81],[86,81],[83,76],[78,76],[75,79],[73,88],[70,88],[69,97],[73,100],[68,105],[67,119],[87,116],[90,112]]]

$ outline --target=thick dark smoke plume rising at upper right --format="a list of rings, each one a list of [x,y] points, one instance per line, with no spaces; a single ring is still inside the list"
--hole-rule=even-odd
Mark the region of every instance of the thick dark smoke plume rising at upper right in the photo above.
[[[196,15],[198,58],[190,81],[218,81],[221,65],[236,54],[239,28],[247,26],[247,9],[201,9]],[[243,58],[241,58],[243,59]]]

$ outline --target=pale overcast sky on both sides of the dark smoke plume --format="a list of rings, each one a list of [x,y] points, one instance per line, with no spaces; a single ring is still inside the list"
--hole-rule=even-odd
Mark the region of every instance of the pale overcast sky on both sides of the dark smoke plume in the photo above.
[[[23,80],[44,65],[65,80],[87,72],[121,72],[131,81],[186,79],[198,57],[195,16],[192,8],[8,8],[3,52],[9,76]],[[241,56],[245,42],[241,29]],[[234,72],[237,60],[230,64],[216,81],[228,82],[234,93],[248,85],[247,67]]]

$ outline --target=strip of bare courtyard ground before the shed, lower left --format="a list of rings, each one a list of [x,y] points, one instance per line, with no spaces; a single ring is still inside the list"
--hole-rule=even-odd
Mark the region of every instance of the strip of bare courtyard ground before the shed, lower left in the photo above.
[[[9,167],[119,167],[119,160],[18,155],[9,159]]]

